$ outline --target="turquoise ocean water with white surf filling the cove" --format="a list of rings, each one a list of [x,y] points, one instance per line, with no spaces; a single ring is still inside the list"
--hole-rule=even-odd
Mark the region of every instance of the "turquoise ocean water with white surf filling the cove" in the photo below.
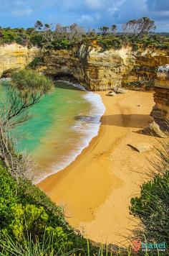
[[[1,86],[1,96],[3,91]],[[57,81],[54,91],[29,109],[29,119],[13,134],[15,149],[32,155],[35,167],[30,175],[34,183],[75,160],[97,135],[104,111],[98,94],[66,81]]]

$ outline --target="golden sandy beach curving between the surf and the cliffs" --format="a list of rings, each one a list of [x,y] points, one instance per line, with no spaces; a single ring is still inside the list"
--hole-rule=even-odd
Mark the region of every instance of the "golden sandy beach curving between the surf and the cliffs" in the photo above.
[[[158,145],[154,137],[140,134],[153,118],[153,91],[127,91],[115,97],[97,92],[105,114],[97,137],[64,170],[38,184],[57,205],[64,206],[69,224],[95,242],[127,245],[137,220],[130,215],[132,196],[148,172],[147,157],[154,150],[137,152],[130,142]]]

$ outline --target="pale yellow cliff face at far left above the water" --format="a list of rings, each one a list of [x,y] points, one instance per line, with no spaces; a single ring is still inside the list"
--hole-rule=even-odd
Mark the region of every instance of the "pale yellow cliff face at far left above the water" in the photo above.
[[[37,47],[28,48],[17,44],[0,46],[0,77],[9,69],[24,68],[35,56],[39,55]]]

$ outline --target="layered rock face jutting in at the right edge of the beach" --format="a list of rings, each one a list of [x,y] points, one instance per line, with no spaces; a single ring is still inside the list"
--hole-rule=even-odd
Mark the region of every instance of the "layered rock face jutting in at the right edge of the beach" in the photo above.
[[[155,106],[151,112],[155,122],[161,129],[169,130],[169,65],[158,68],[158,76],[155,80]]]

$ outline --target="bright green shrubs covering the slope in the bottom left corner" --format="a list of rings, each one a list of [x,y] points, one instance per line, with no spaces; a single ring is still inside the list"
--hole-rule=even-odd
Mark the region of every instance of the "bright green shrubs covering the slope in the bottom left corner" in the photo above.
[[[21,247],[37,241],[44,249],[51,242],[52,250],[65,252],[87,250],[87,242],[64,220],[62,209],[32,185],[20,180],[19,184],[0,165],[0,250],[12,239]],[[10,239],[6,240],[6,237]],[[92,252],[97,249],[91,245]]]

